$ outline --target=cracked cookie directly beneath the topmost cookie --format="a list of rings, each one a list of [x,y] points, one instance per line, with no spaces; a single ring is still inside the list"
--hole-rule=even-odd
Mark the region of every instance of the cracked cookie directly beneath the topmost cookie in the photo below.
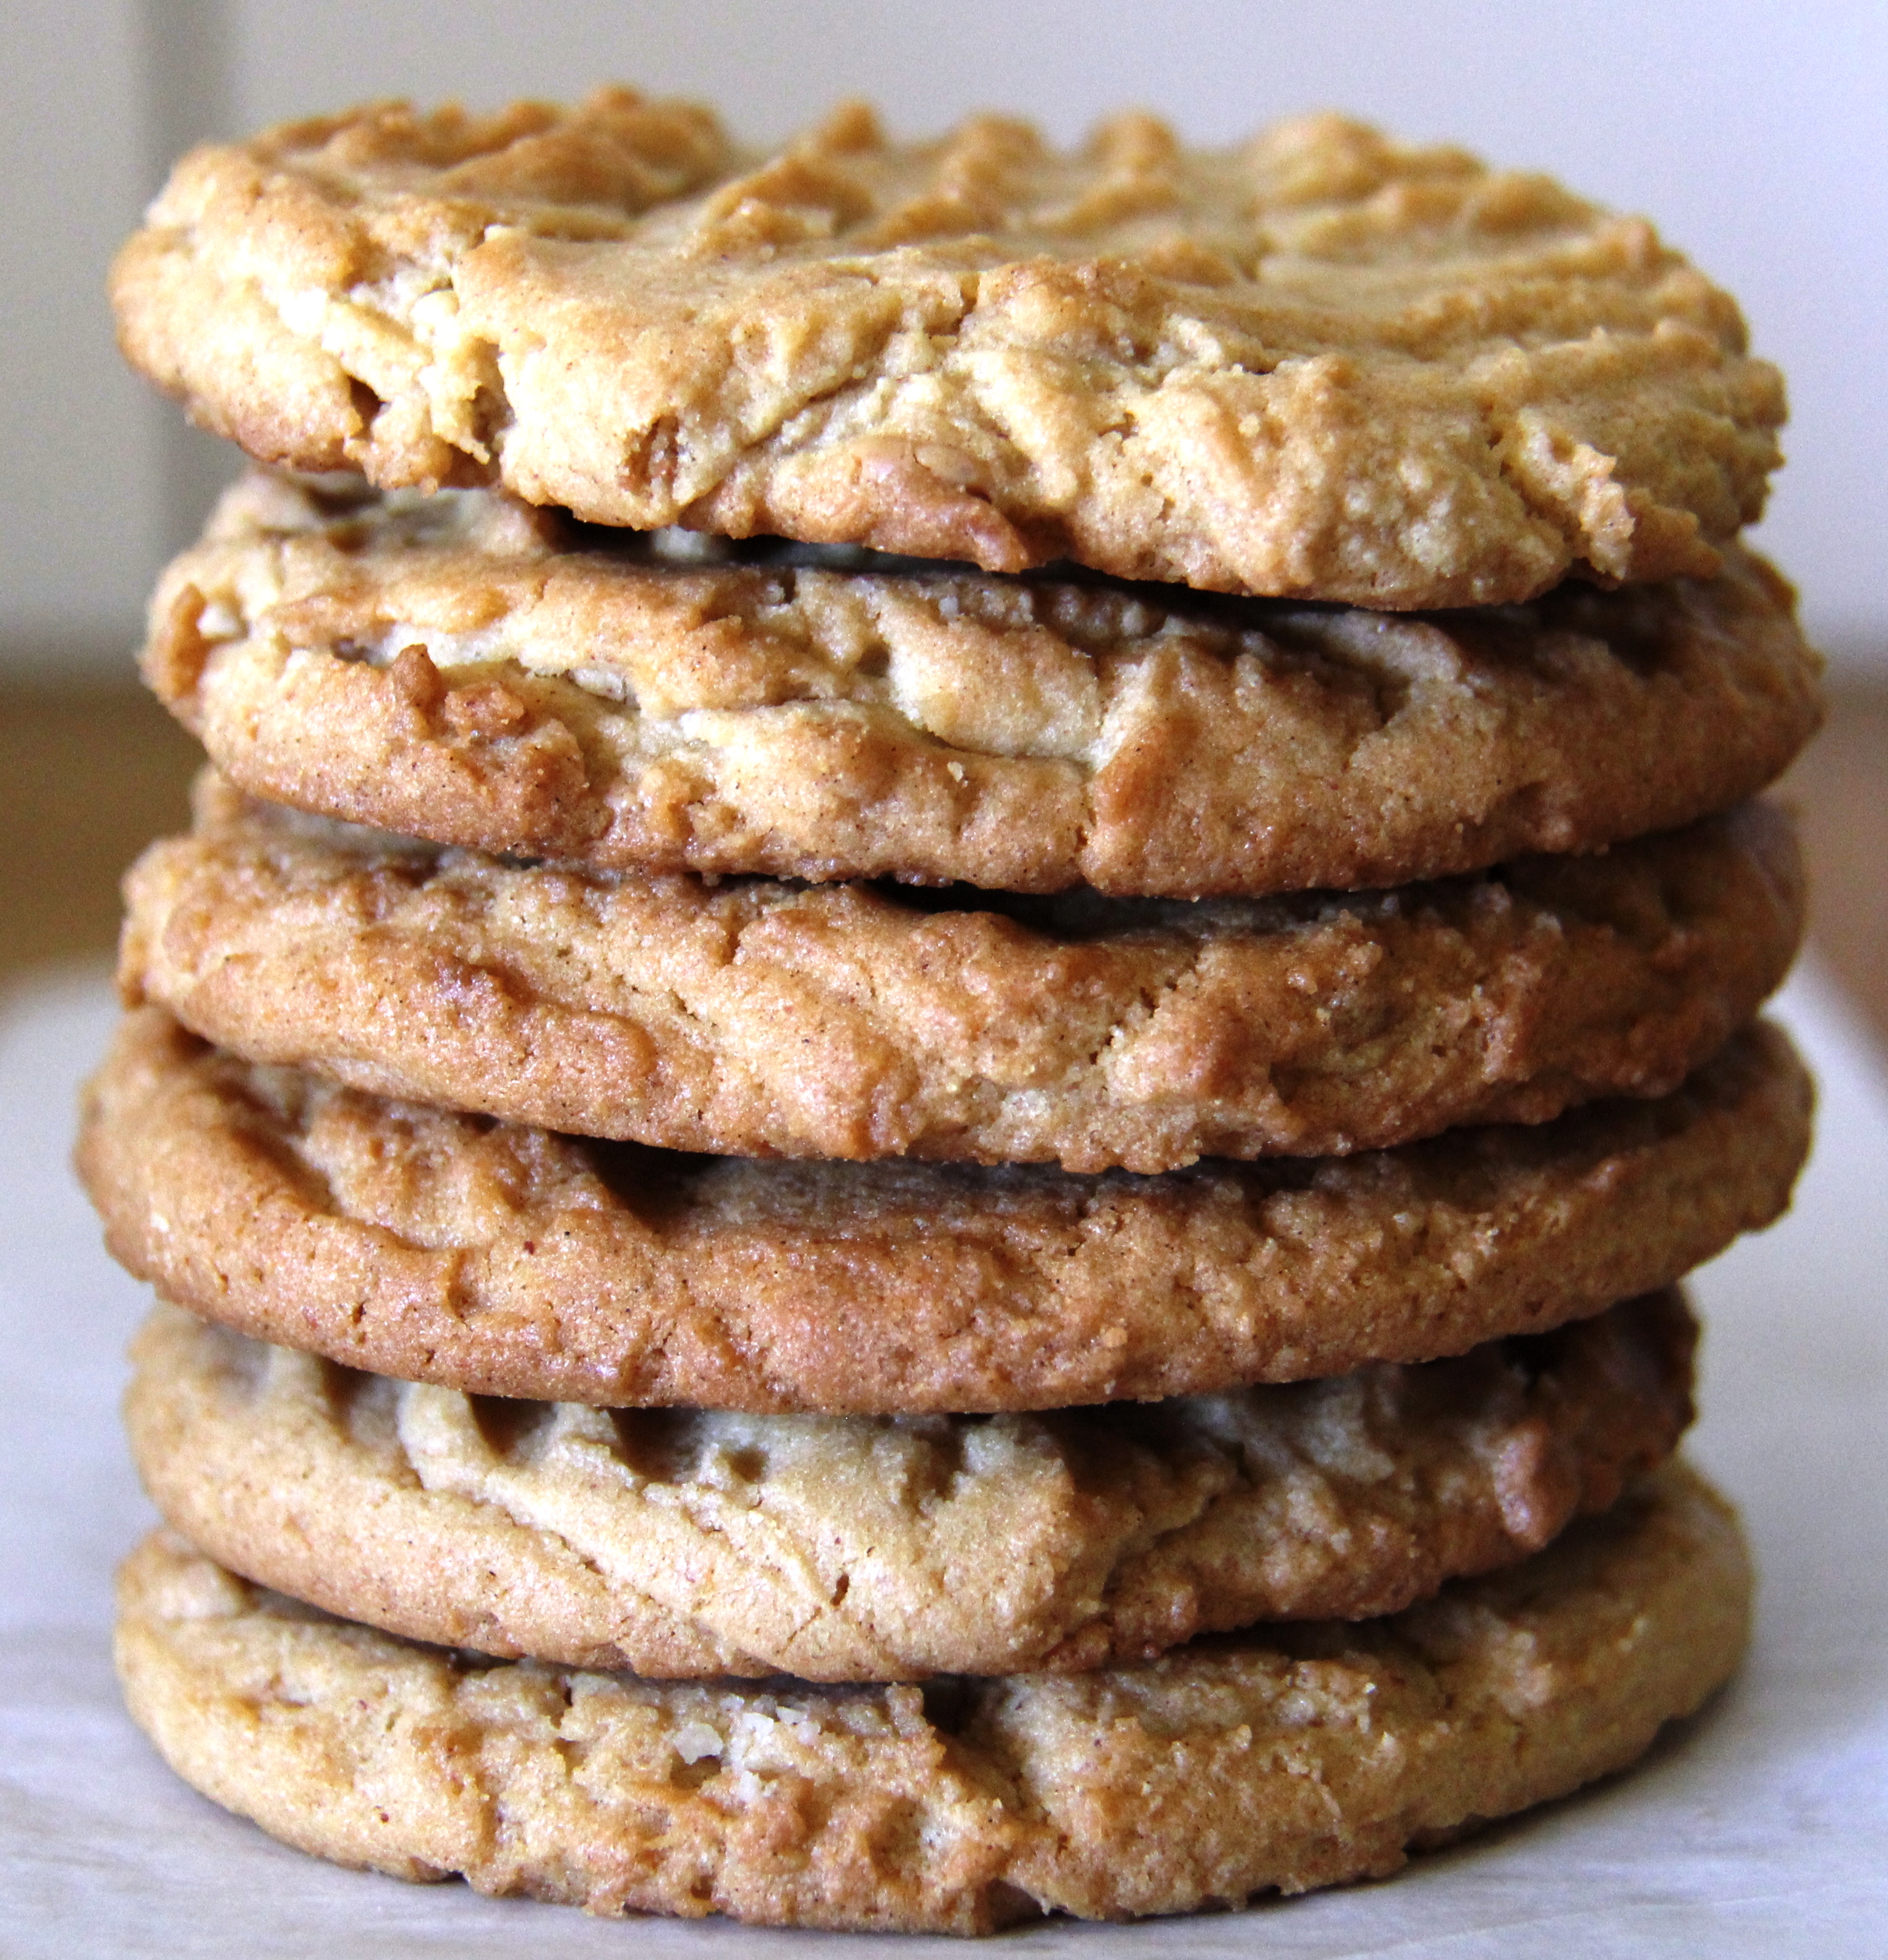
[[[143,668],[243,790],[437,843],[1123,896],[1594,851],[1755,794],[1819,713],[1735,547],[1400,617],[263,474],[165,572]]]

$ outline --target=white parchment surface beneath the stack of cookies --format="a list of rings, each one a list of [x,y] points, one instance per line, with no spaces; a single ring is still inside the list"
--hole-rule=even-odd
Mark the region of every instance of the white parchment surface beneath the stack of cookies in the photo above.
[[[988,1952],[1290,1960],[1888,1954],[1888,1076],[1813,974],[1784,1015],[1821,1082],[1796,1211],[1712,1266],[1692,1445],[1763,1574],[1739,1680],[1633,1774],[1400,1878],[1137,1927],[1045,1923]],[[145,1294],[67,1170],[104,1047],[102,972],[0,998],[0,1956],[635,1954],[788,1960],[959,1942],[590,1921],[284,1850],[178,1784],[118,1707],[112,1566],[151,1521],[118,1437]]]

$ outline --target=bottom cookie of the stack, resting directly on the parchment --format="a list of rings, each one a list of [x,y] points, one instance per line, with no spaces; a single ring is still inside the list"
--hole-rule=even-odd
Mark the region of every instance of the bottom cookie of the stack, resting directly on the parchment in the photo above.
[[[980,1933],[1394,1872],[1639,1756],[1735,1668],[1751,1572],[1682,1466],[1382,1621],[935,1688],[476,1662],[265,1593],[169,1535],[118,1670],[165,1760],[302,1850],[596,1913]]]

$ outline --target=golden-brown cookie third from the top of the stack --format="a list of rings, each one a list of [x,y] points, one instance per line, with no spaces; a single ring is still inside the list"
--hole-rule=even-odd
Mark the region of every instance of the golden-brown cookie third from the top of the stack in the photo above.
[[[1355,898],[704,884],[437,853],[210,782],[127,1002],[253,1060],[676,1151],[1168,1170],[1663,1094],[1802,933],[1764,806]]]

